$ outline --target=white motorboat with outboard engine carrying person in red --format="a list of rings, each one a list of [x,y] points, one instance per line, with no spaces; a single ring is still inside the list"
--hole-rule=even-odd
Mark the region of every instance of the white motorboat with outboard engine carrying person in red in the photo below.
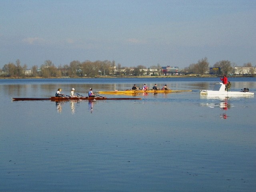
[[[226,91],[223,83],[216,83],[213,90],[200,90],[201,95],[208,96],[251,96],[253,92],[249,92],[248,88],[244,88],[241,91]]]

